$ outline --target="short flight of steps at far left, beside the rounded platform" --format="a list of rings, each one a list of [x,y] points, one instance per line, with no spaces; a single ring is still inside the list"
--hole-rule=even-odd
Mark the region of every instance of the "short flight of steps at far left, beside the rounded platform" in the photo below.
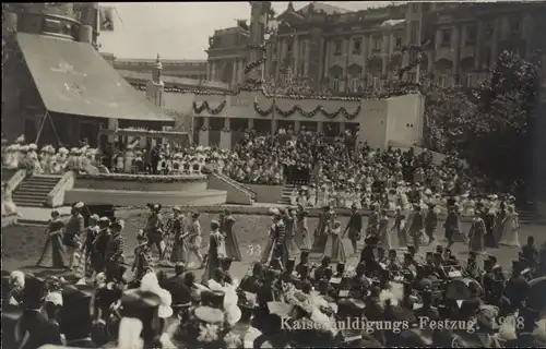
[[[61,176],[45,174],[25,178],[12,194],[13,203],[21,207],[43,207],[60,179]]]

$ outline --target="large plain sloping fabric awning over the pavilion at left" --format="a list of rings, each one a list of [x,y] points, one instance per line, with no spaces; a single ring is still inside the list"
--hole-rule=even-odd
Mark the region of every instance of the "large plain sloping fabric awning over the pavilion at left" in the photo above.
[[[47,110],[123,120],[171,122],[92,45],[17,33],[17,43]]]

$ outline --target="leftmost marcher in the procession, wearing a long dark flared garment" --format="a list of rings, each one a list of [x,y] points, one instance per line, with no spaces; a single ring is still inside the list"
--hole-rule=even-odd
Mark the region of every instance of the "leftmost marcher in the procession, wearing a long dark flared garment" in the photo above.
[[[47,240],[44,251],[41,252],[37,266],[63,268],[64,264],[64,245],[62,244],[62,234],[64,231],[64,224],[60,220],[58,210],[51,212],[51,219],[49,219],[47,228]]]

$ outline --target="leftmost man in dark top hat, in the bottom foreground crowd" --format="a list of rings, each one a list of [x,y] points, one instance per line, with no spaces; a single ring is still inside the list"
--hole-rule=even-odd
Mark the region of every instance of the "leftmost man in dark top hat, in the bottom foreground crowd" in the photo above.
[[[62,345],[59,326],[41,313],[44,284],[36,277],[25,279],[23,305],[25,310],[15,325],[15,339],[21,349],[36,349],[44,345]]]

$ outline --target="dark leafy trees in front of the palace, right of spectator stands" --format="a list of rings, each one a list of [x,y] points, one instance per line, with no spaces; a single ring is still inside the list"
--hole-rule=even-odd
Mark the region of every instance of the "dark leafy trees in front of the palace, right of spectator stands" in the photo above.
[[[502,52],[472,92],[424,83],[426,146],[456,152],[503,186],[527,176],[527,147],[538,103],[538,67]]]

